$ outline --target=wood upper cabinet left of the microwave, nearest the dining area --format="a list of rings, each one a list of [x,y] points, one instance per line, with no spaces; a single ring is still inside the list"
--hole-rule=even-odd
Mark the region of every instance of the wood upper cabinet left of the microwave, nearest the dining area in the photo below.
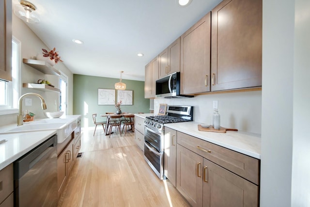
[[[158,56],[145,66],[144,97],[155,98],[158,79]]]

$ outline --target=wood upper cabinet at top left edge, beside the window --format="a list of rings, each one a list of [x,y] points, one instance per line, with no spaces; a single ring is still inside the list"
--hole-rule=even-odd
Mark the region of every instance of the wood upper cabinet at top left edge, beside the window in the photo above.
[[[12,81],[12,0],[0,0],[0,79]]]

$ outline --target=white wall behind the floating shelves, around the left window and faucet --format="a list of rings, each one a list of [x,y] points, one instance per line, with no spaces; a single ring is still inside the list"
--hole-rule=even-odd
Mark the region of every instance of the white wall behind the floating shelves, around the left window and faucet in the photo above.
[[[34,34],[30,28],[15,15],[12,16],[13,20],[13,36],[15,36],[21,42],[21,84],[22,83],[37,83],[39,79],[47,79],[56,88],[59,88],[59,77],[45,75],[31,66],[22,63],[23,58],[34,59],[38,53],[42,52],[42,48],[47,46]],[[61,53],[61,52],[60,52]],[[62,63],[58,63],[54,66],[56,69],[61,70],[68,76],[68,114],[72,114],[73,111],[73,74],[72,72]],[[59,93],[55,92],[41,92],[38,90],[31,90],[27,88],[21,89],[21,95],[25,93],[37,93],[43,96],[47,103],[47,111],[57,111],[59,106]],[[23,110],[30,110],[36,114],[37,118],[45,117],[43,110],[41,109],[41,101],[36,96],[29,96],[32,99],[32,106],[26,107],[23,105]],[[56,100],[56,104],[55,104]],[[0,126],[7,124],[17,123],[17,114],[1,115],[5,122],[1,122]]]

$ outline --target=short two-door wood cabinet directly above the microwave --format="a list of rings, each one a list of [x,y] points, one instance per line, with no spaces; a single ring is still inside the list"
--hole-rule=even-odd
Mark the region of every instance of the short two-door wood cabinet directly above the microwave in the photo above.
[[[159,78],[180,72],[180,37],[159,54]]]

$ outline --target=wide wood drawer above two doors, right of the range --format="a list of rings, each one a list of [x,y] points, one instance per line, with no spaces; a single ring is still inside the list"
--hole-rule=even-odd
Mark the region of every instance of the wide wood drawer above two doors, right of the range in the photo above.
[[[259,185],[260,160],[217,144],[177,132],[177,143],[219,166]]]

